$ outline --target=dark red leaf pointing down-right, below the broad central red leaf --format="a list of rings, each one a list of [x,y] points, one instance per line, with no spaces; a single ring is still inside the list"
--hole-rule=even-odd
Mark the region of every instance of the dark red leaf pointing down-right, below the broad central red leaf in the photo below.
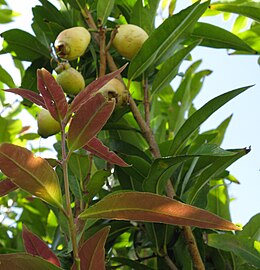
[[[123,161],[116,153],[110,151],[99,139],[96,137],[92,138],[87,144],[83,147],[92,154],[100,157],[111,164],[116,164],[121,167],[129,167],[126,162]]]

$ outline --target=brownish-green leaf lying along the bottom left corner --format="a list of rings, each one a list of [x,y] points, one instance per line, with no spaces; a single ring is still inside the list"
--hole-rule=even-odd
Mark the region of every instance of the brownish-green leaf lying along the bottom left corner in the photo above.
[[[0,254],[0,270],[61,270],[48,261],[27,253]]]

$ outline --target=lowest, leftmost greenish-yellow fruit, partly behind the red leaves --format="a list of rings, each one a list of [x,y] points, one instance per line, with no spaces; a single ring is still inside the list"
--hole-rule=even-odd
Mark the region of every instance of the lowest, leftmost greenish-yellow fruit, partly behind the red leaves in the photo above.
[[[47,138],[60,131],[60,124],[50,114],[49,111],[42,109],[37,117],[38,134]]]

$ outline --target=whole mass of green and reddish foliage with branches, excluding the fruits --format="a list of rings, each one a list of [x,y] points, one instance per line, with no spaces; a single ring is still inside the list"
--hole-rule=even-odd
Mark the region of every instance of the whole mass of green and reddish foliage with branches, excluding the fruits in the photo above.
[[[250,149],[220,147],[230,118],[200,132],[250,86],[197,109],[194,99],[211,72],[198,71],[201,61],[191,60],[197,46],[260,53],[260,4],[197,1],[174,12],[177,1],[106,2],[62,0],[55,7],[40,0],[33,35],[1,33],[1,53],[12,55],[22,83],[16,87],[0,67],[0,83],[9,87],[0,92],[0,269],[260,268],[259,215],[240,232],[229,212],[227,183],[237,181],[227,168]],[[168,5],[168,17],[155,28],[158,10],[167,13]],[[6,23],[11,16],[3,6],[0,1],[0,22]],[[198,22],[226,13],[238,14],[233,33]],[[110,46],[125,23],[149,34],[131,61]],[[92,35],[86,52],[70,61],[86,82],[76,96],[63,92],[53,72],[66,62],[55,52],[55,39],[74,26]],[[30,63],[26,70],[22,61]],[[183,73],[184,61],[190,66]],[[115,77],[127,89],[120,106],[121,93],[102,90]],[[5,92],[23,100],[10,106]],[[35,116],[39,107],[60,125],[57,159],[36,157],[46,149],[30,147],[39,135],[17,119],[22,109]]]

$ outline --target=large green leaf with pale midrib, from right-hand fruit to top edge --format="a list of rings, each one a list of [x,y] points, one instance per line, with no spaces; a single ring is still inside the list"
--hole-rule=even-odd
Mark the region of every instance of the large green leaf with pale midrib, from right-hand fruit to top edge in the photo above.
[[[199,5],[199,1],[166,19],[145,41],[137,55],[132,59],[128,78],[135,79],[169,51],[173,51],[188,34],[208,6],[208,2]],[[156,60],[157,59],[157,60]]]

